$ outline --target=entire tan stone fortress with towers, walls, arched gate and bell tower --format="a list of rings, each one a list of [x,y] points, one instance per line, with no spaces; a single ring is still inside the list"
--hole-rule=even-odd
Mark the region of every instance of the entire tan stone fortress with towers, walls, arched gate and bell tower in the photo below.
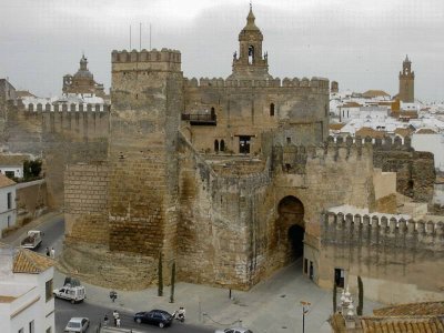
[[[111,108],[12,108],[10,150],[43,151],[64,205],[65,269],[141,289],[162,255],[165,283],[174,261],[179,281],[248,290],[302,256],[322,287],[442,297],[444,225],[396,193],[432,198],[433,154],[329,138],[329,80],[272,77],[262,41],[250,8],[226,79],[185,78],[175,50],[113,51]]]

